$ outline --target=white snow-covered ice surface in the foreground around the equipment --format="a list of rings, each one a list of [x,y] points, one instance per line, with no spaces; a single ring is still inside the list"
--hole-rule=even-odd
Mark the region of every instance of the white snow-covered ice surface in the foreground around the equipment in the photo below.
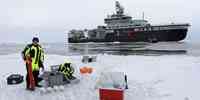
[[[76,76],[81,82],[64,91],[48,94],[25,90],[25,82],[7,85],[6,77],[12,73],[26,74],[20,54],[0,56],[0,100],[99,100],[95,83],[103,71],[125,72],[129,89],[124,100],[200,100],[200,57],[170,56],[115,56],[97,55],[97,62],[83,64],[82,56],[46,55],[45,69],[61,64],[69,58],[76,65]],[[90,75],[80,75],[83,66],[94,68]]]

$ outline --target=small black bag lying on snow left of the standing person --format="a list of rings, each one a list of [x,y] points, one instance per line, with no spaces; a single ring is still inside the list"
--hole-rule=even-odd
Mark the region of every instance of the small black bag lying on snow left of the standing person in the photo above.
[[[24,81],[24,76],[20,74],[11,74],[10,76],[7,77],[7,84],[12,85],[12,84],[19,84]]]

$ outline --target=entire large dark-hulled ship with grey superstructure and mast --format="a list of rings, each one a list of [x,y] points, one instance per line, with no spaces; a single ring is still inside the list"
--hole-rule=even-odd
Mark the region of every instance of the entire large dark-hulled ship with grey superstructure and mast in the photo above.
[[[116,12],[104,19],[104,26],[96,29],[71,30],[69,43],[82,42],[158,42],[180,41],[185,39],[190,26],[184,24],[151,25],[144,18],[132,19],[124,14],[124,8],[118,1]]]

